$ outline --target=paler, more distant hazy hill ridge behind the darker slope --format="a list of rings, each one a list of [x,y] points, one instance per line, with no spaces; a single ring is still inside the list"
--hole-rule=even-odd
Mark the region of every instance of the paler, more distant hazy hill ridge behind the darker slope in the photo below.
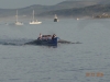
[[[19,15],[32,15],[33,10],[35,11],[35,14],[40,14],[47,11],[72,9],[72,8],[84,8],[92,4],[97,3],[92,1],[63,1],[55,5],[34,4],[22,9],[0,9],[0,16],[15,15],[16,10]]]

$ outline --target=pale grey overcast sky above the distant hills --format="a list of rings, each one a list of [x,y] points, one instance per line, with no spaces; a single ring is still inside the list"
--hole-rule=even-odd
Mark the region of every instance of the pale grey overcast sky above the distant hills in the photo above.
[[[32,4],[53,5],[65,0],[0,0],[0,9],[24,8]]]

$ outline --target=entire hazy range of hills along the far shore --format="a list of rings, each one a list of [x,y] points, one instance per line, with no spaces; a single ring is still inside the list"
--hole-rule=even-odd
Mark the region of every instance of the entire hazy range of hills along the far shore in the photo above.
[[[0,9],[0,17],[14,16],[18,10],[20,16],[32,16],[35,11],[36,16],[48,16],[58,14],[61,16],[79,16],[109,13],[109,0],[67,0],[55,5],[34,4],[21,9]]]

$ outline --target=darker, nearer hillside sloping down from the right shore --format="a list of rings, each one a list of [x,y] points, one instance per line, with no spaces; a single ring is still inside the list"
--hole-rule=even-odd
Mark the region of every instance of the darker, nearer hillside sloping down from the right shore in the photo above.
[[[102,13],[110,14],[110,4],[97,4],[85,8],[72,8],[64,10],[50,11],[38,14],[38,16],[51,16],[57,14],[59,16],[69,17],[69,16],[96,16]]]

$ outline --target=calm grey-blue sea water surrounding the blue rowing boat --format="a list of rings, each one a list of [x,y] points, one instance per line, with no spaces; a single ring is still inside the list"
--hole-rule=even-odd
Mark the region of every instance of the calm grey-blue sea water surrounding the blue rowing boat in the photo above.
[[[0,82],[110,82],[110,19],[0,23]],[[23,45],[38,34],[81,44]]]

